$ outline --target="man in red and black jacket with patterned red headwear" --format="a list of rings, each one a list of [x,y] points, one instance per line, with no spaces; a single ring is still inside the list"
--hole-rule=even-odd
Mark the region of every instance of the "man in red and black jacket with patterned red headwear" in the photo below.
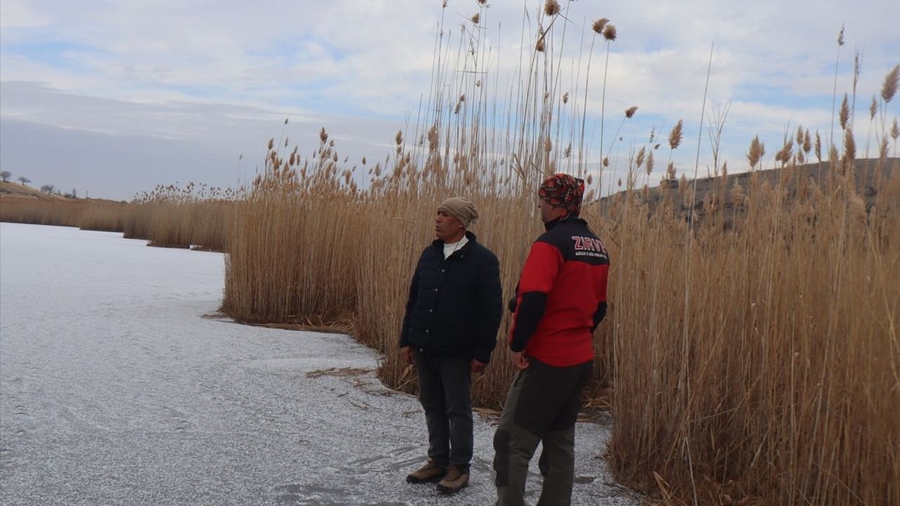
[[[570,504],[575,420],[593,372],[593,331],[607,312],[607,249],[579,218],[584,182],[557,174],[538,192],[542,234],[510,302],[510,358],[519,371],[494,435],[497,504],[525,503],[538,443],[544,486],[537,504]]]

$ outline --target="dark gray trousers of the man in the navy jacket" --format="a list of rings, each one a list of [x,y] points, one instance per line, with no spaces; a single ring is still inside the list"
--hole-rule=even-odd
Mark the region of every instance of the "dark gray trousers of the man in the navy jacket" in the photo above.
[[[428,458],[468,473],[473,453],[472,359],[419,350],[413,355],[428,424]]]

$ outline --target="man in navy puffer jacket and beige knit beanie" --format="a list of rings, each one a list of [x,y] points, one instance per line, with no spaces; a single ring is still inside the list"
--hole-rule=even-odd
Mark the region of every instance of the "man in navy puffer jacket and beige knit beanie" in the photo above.
[[[442,493],[469,483],[472,373],[491,361],[502,314],[497,257],[467,231],[476,218],[462,197],[437,207],[437,240],[419,258],[401,330],[401,355],[416,366],[428,424],[428,463],[407,482],[440,480]]]

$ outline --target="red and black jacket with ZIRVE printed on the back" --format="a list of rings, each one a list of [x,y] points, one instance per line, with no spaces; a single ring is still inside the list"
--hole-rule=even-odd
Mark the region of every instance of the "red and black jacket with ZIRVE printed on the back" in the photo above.
[[[550,221],[531,247],[509,330],[509,348],[550,366],[594,358],[593,330],[607,312],[607,248],[580,218]]]

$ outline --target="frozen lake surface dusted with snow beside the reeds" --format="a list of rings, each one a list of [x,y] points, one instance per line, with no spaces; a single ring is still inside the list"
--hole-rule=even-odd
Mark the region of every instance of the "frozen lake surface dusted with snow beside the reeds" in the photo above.
[[[374,351],[204,318],[223,277],[218,253],[0,223],[0,503],[493,504],[490,420],[468,489],[405,483],[424,414]],[[574,504],[637,503],[598,458],[607,438],[579,424]]]

